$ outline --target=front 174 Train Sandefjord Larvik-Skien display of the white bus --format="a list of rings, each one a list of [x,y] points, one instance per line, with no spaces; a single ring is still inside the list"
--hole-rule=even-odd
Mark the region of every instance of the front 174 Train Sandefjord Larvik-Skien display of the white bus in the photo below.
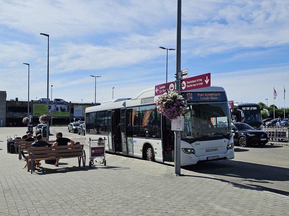
[[[225,92],[185,92],[187,102],[227,101]]]

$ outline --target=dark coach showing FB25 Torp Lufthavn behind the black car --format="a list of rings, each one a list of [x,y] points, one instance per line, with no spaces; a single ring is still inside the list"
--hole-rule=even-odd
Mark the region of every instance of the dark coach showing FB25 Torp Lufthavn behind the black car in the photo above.
[[[232,116],[236,116],[238,122],[245,118],[247,124],[256,130],[260,130],[262,129],[262,110],[266,111],[267,116],[269,116],[269,111],[260,108],[256,103],[234,103]]]

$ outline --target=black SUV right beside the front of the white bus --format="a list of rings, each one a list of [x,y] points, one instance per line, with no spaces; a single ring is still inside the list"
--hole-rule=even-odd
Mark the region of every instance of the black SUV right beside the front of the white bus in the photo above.
[[[241,122],[233,122],[231,126],[234,143],[238,143],[241,147],[248,147],[251,144],[264,146],[268,142],[265,131],[256,130],[250,125]]]

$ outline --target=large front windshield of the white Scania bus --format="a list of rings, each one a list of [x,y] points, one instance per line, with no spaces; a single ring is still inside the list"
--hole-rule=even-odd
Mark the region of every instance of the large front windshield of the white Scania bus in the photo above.
[[[181,140],[188,143],[198,140],[231,136],[231,114],[227,102],[188,104],[184,114],[184,131]]]

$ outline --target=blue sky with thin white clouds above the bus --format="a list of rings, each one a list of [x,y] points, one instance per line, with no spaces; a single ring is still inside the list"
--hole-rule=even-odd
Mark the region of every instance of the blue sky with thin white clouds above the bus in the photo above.
[[[132,97],[166,82],[166,50],[176,48],[177,0],[0,0],[1,91],[7,99],[74,102]],[[289,101],[289,1],[183,0],[181,70],[211,73],[228,100]],[[176,51],[168,51],[168,82]],[[288,98],[288,99],[287,99]]]

